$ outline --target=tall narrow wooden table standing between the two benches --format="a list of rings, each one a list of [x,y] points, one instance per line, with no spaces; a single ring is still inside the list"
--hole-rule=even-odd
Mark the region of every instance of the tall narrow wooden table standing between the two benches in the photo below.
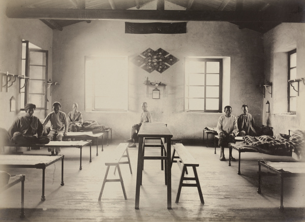
[[[139,149],[138,149],[138,166],[137,166],[137,183],[136,183],[136,203],[135,209],[139,209],[140,202],[140,186],[142,184],[142,164],[143,164],[143,141],[148,138],[164,138],[166,141],[165,157],[158,159],[166,160],[167,170],[167,209],[171,209],[171,138],[172,133],[163,123],[144,123],[142,124],[139,133]]]

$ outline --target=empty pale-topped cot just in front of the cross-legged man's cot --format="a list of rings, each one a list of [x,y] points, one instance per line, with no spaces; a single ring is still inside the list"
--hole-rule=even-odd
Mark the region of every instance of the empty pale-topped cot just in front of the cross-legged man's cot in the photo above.
[[[0,155],[0,166],[5,168],[13,167],[42,169],[41,201],[45,201],[45,169],[47,166],[62,160],[62,182],[60,185],[64,186],[64,158],[64,155]]]

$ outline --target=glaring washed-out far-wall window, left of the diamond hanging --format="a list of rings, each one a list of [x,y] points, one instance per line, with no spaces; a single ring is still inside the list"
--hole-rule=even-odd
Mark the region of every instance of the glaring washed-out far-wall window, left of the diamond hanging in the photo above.
[[[126,111],[127,108],[128,58],[86,56],[86,111]]]

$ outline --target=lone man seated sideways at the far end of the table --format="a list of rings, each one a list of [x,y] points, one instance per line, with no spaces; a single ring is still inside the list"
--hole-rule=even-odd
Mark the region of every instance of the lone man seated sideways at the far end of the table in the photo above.
[[[132,142],[132,144],[129,145],[129,147],[136,147],[135,141],[137,139],[138,132],[140,130],[142,123],[151,123],[151,116],[147,110],[147,103],[142,102],[141,108],[143,110],[143,113],[141,114],[140,123],[137,123],[132,126],[130,138],[126,140],[127,142]]]

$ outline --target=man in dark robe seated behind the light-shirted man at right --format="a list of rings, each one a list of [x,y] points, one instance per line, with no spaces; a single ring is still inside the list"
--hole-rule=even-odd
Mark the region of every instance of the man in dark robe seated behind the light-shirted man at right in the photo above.
[[[255,129],[258,127],[255,125],[254,119],[251,114],[248,113],[248,105],[241,106],[243,114],[240,114],[237,118],[237,127],[239,136],[257,136]]]

